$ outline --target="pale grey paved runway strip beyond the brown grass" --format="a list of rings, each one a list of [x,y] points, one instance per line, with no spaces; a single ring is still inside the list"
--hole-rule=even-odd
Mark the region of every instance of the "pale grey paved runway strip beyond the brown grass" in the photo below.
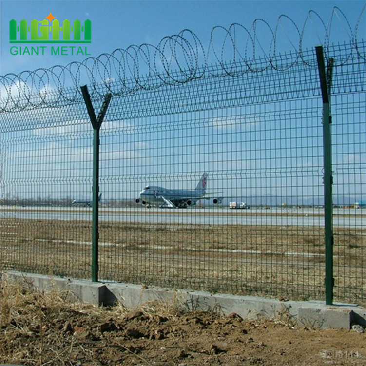
[[[92,220],[90,207],[0,207],[0,217],[48,220]],[[250,226],[302,226],[323,227],[322,208],[99,208],[99,221],[142,222],[148,224],[194,224],[194,225],[250,225]],[[334,209],[335,227],[366,227],[366,211],[363,209]]]

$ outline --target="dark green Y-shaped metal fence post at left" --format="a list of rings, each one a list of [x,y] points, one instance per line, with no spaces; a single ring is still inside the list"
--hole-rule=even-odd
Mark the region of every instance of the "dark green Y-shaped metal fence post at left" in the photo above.
[[[104,98],[98,118],[94,113],[92,101],[86,85],[81,87],[86,108],[93,126],[93,213],[92,213],[92,281],[98,282],[98,239],[99,239],[99,131],[112,95],[107,94]]]

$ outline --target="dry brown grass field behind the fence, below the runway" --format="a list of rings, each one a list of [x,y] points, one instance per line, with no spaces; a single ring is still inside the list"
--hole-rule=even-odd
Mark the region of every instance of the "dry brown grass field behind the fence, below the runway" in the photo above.
[[[91,278],[89,221],[1,219],[3,269]],[[324,229],[99,223],[99,278],[324,300]],[[334,232],[335,300],[365,304],[366,231]]]

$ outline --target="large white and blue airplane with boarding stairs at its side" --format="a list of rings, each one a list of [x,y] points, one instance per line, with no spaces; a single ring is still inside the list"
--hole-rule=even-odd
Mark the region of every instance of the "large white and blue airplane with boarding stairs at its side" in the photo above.
[[[138,195],[136,203],[150,208],[158,205],[161,208],[187,208],[200,199],[212,199],[214,204],[222,202],[223,197],[206,196],[207,174],[204,173],[194,190],[167,189],[159,186],[146,186]]]

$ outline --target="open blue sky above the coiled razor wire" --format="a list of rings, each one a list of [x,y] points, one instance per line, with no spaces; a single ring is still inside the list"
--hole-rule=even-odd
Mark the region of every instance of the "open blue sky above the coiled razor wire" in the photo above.
[[[157,45],[163,37],[178,34],[183,29],[193,31],[207,50],[214,26],[228,28],[232,23],[240,23],[250,29],[255,19],[263,19],[272,29],[275,29],[280,15],[287,15],[293,19],[301,31],[310,10],[317,12],[327,25],[334,6],[342,10],[353,31],[364,4],[363,0],[1,1],[0,74],[18,74],[24,70],[66,65],[72,61],[81,62],[88,57],[82,53],[73,56],[51,56],[50,52],[46,52],[45,55],[11,55],[10,19],[16,19],[18,22],[21,19],[42,20],[50,12],[60,22],[63,19],[71,21],[90,19],[92,43],[87,45],[86,53],[90,57],[98,57],[103,53],[111,53],[117,48],[126,49],[133,44]],[[339,38],[347,39],[349,32],[346,22],[339,16],[336,18],[338,20],[334,19],[332,31],[337,34],[338,40]],[[307,28],[306,42],[309,46],[319,43],[318,39],[323,35],[316,25],[316,20],[315,23],[308,21]],[[261,32],[266,32],[263,26],[258,27],[257,31],[259,37]],[[361,23],[361,32],[365,34],[365,20]],[[265,34],[263,36],[265,37]],[[288,34],[284,36],[284,38],[293,37]]]

